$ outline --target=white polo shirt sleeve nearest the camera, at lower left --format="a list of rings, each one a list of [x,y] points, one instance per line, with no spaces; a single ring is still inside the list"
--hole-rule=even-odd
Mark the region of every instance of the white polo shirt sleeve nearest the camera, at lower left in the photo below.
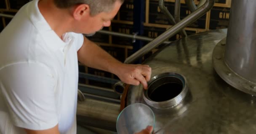
[[[19,63],[0,70],[0,89],[15,126],[45,130],[58,124],[55,80],[40,63]]]

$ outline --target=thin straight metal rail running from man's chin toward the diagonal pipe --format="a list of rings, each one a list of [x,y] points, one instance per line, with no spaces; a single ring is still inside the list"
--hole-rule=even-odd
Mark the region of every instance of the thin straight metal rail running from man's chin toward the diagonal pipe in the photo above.
[[[152,40],[154,40],[152,38],[144,37],[144,36],[138,36],[136,34],[131,35],[131,34],[118,33],[118,32],[113,32],[113,31],[106,31],[106,30],[100,30],[100,31],[97,31],[97,33],[109,34],[109,35],[113,35],[113,36],[126,37],[126,38],[131,38],[131,39],[139,39],[141,41],[152,41]],[[171,41],[165,41],[163,43],[164,44],[170,44]]]

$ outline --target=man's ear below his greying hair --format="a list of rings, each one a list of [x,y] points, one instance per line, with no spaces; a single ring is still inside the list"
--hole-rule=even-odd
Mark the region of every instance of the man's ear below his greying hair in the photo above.
[[[77,5],[73,11],[75,20],[79,21],[82,17],[90,15],[90,7],[87,4]]]

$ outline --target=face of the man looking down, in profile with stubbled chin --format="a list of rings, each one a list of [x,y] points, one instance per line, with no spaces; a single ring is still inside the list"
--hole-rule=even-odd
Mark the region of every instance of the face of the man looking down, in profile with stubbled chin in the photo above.
[[[83,18],[81,20],[82,26],[80,27],[79,33],[85,33],[85,34],[93,34],[96,31],[101,30],[103,27],[108,27],[111,24],[111,20],[115,17],[118,10],[121,7],[121,3],[117,0],[115,2],[114,8],[110,12],[101,12],[94,16],[89,16],[87,18]]]

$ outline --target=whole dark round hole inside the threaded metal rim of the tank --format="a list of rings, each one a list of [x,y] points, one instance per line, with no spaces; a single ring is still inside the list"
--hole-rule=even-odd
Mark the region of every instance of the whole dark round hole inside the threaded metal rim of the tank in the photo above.
[[[179,95],[182,89],[183,82],[178,77],[162,77],[149,86],[148,97],[156,102],[168,101]]]

